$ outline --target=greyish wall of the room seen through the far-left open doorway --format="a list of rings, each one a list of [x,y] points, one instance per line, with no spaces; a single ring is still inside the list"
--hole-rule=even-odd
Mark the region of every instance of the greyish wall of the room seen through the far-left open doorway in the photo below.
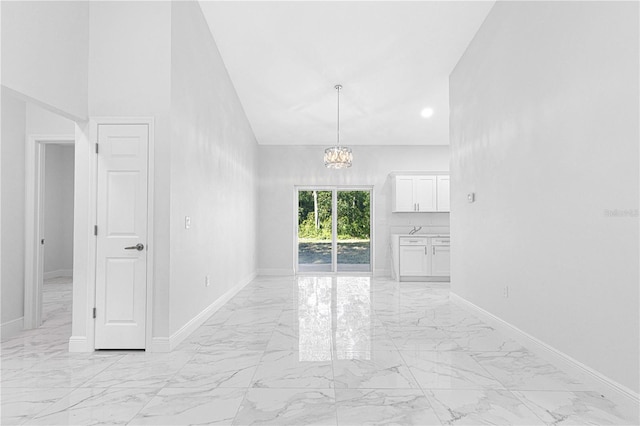
[[[73,268],[73,169],[73,145],[45,147],[45,279],[69,276]]]

